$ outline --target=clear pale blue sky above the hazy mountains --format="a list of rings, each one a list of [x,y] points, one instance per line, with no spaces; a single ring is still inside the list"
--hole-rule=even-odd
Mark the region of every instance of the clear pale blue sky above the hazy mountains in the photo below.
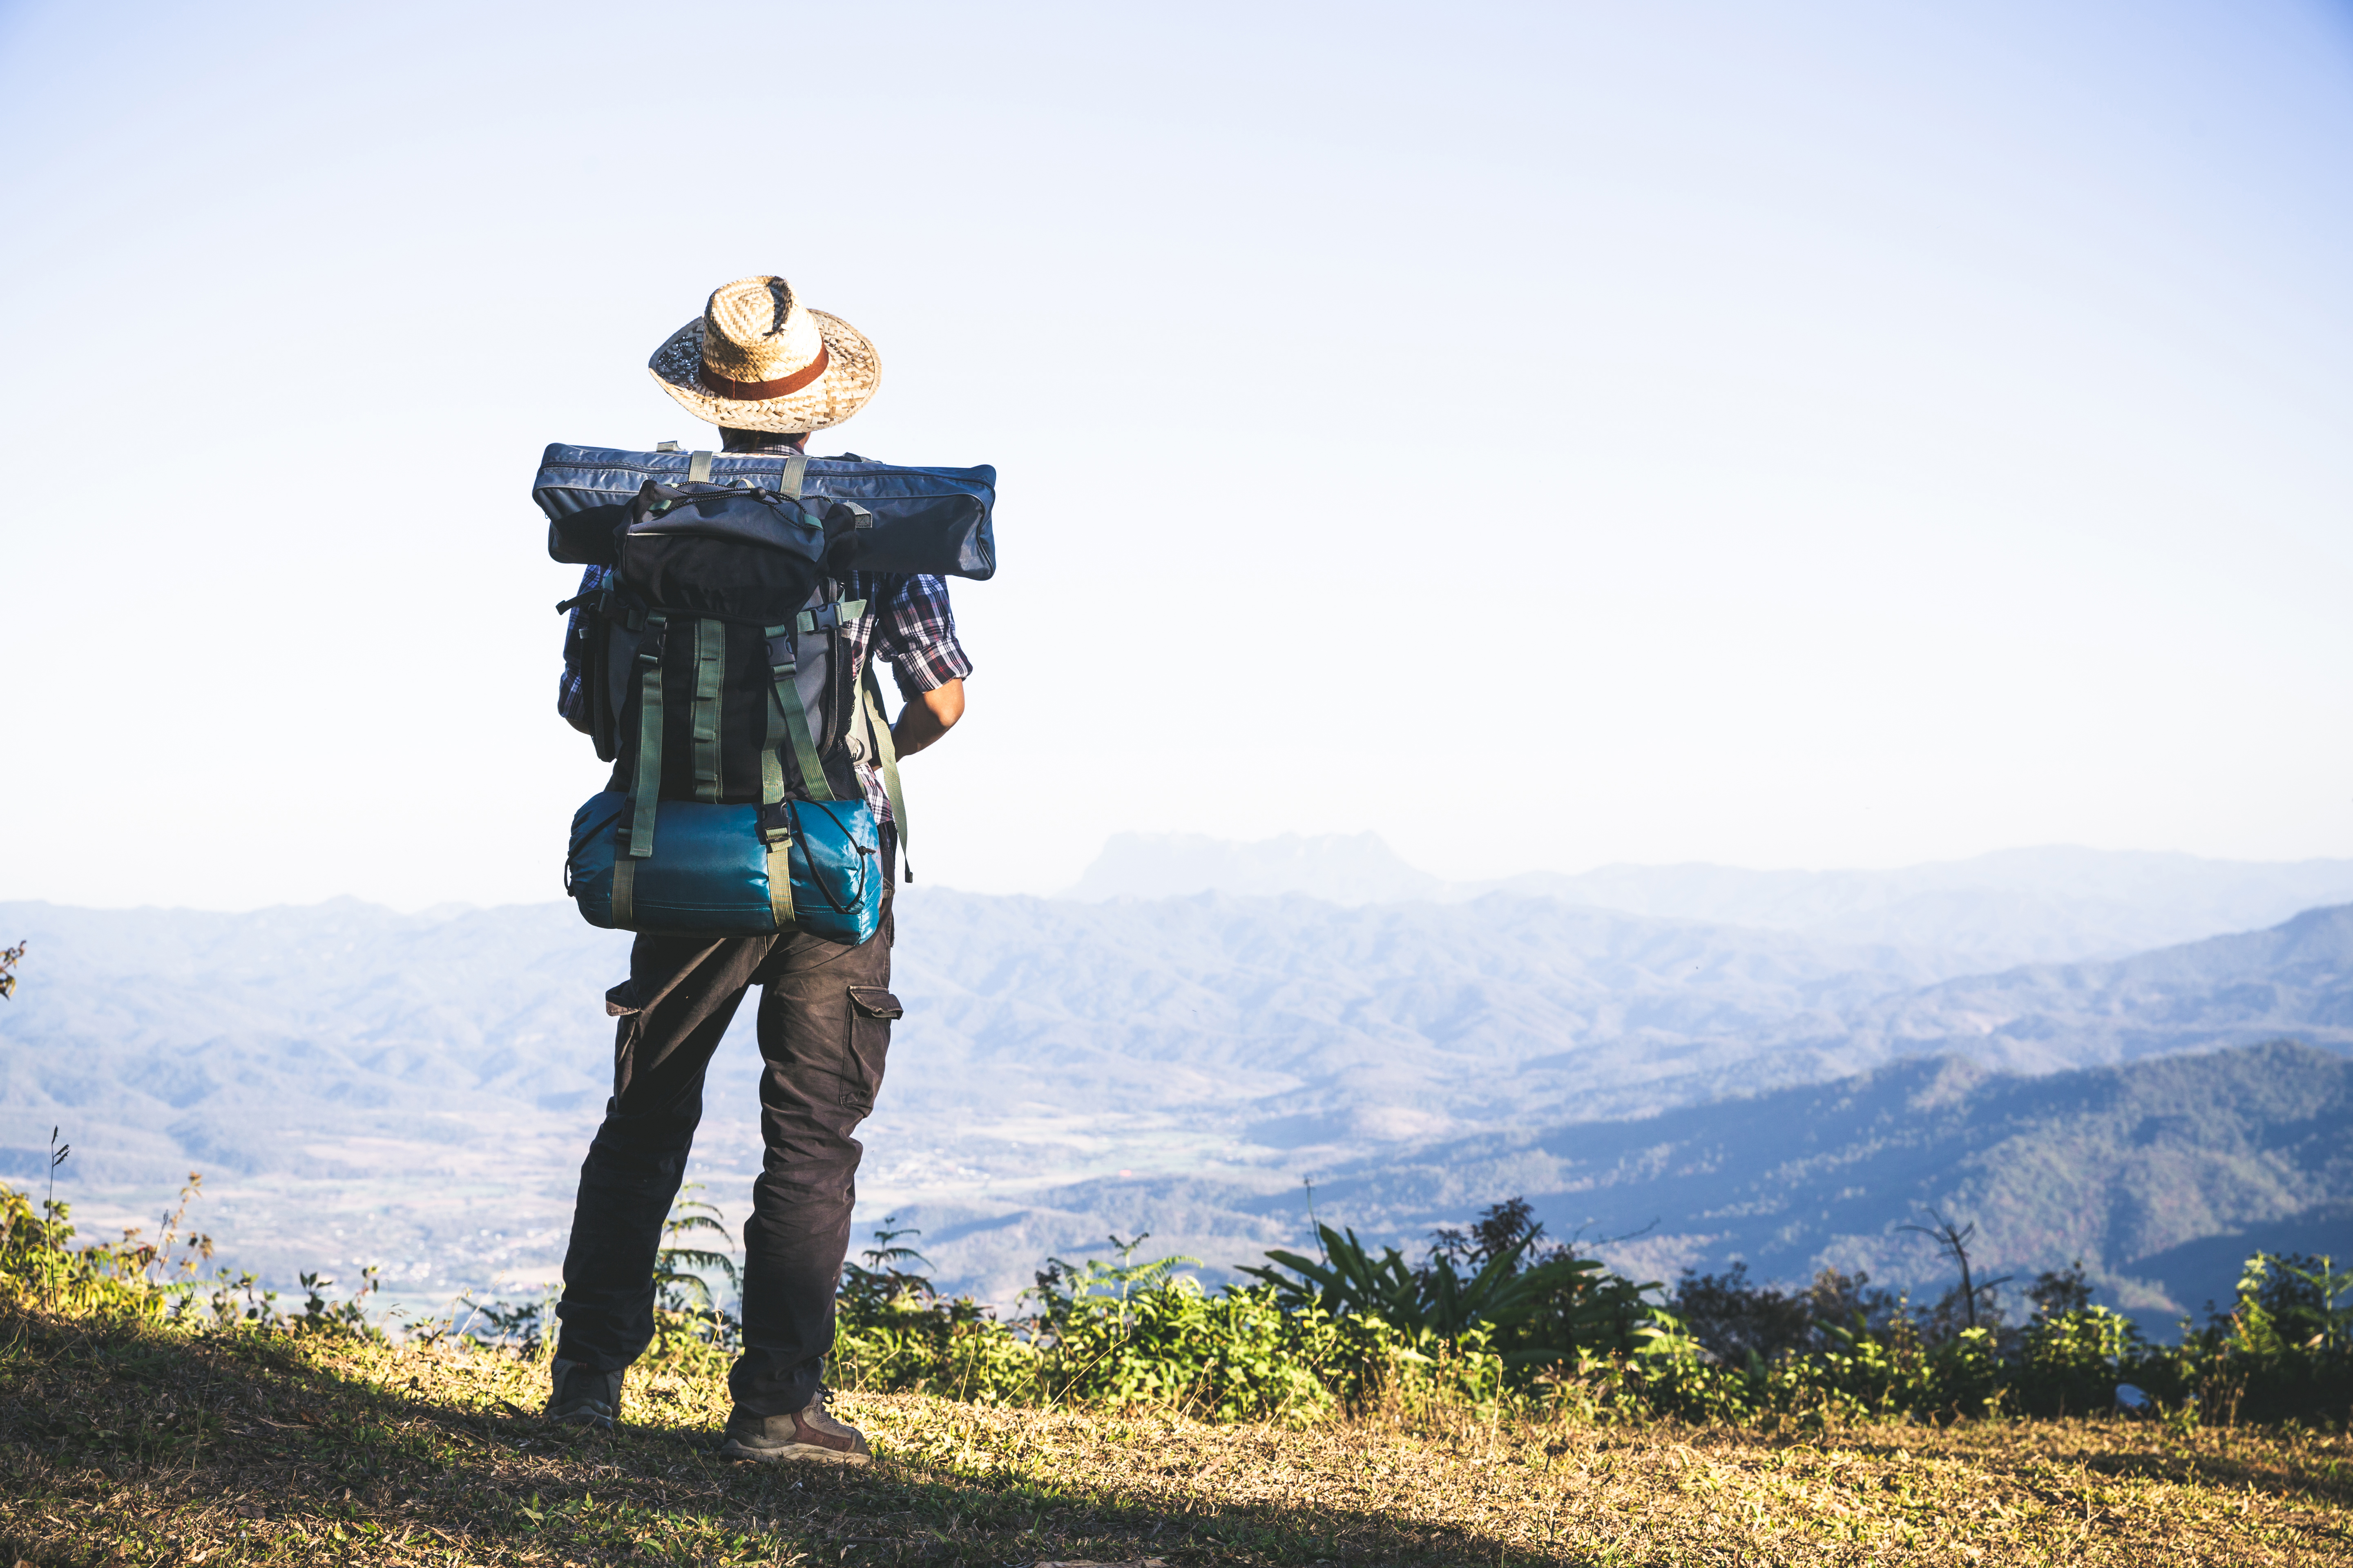
[[[2353,21],[0,7],[0,898],[560,896],[548,440],[1002,468],[915,865],[2353,853]]]

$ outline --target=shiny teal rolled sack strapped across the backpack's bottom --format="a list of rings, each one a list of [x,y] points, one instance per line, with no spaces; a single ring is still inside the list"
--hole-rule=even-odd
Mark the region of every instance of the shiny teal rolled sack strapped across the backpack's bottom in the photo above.
[[[882,844],[866,802],[666,799],[654,853],[635,863],[616,853],[626,813],[628,795],[605,790],[572,816],[565,891],[591,926],[661,936],[807,931],[856,945],[882,924]]]

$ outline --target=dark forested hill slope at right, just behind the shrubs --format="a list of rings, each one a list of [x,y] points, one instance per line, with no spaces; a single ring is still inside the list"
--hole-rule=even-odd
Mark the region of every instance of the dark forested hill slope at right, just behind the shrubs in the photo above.
[[[1979,1225],[1981,1276],[2082,1258],[2111,1302],[2169,1319],[2228,1300],[2254,1246],[2353,1251],[2353,1060],[2299,1044],[2009,1077],[1955,1058],[1640,1121],[1457,1140],[1334,1171],[1322,1201],[1447,1222],[1525,1192],[1558,1234],[1628,1265],[1746,1258],[1937,1274],[1901,1227]]]

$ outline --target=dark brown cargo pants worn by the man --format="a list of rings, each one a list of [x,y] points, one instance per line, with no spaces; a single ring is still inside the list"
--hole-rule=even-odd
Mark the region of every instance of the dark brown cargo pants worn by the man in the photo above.
[[[892,863],[885,846],[882,865]],[[621,1018],[614,1093],[581,1164],[555,1309],[555,1354],[595,1371],[635,1361],[654,1338],[654,1253],[704,1117],[704,1070],[751,985],[760,1135],[767,1159],[744,1225],[744,1354],[727,1378],[739,1410],[807,1408],[833,1349],[833,1295],[849,1251],[864,1145],[849,1131],[882,1086],[889,1020],[892,898],[859,947],[814,936],[640,936]]]

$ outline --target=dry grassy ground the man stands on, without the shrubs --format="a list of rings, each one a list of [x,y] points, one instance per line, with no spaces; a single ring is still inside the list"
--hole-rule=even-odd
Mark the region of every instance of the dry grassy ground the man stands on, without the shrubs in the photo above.
[[[508,1354],[0,1319],[0,1561],[2344,1563],[2353,1441],[2127,1422],[1209,1427],[842,1396],[871,1469],[713,1458],[715,1366],[539,1422]]]

